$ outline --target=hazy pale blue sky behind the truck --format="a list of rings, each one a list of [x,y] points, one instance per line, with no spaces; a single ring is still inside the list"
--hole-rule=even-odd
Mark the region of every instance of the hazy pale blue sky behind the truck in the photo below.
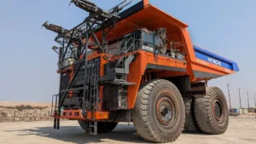
[[[41,30],[44,21],[72,28],[87,14],[69,0],[8,0],[0,4],[0,101],[51,100],[58,93],[57,55],[51,50],[55,33]],[[120,0],[92,0],[108,9]],[[137,1],[136,1],[137,2]],[[254,105],[256,93],[256,1],[255,0],[151,0],[158,8],[189,25],[195,45],[230,60],[241,69],[234,75],[212,80],[227,95],[234,107]]]

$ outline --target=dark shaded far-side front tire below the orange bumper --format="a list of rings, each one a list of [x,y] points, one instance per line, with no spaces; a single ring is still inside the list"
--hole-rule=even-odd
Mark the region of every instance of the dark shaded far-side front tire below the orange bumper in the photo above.
[[[115,122],[98,122],[97,123],[97,132],[98,133],[108,133],[114,130],[118,123]],[[89,122],[79,120],[79,125],[85,132],[89,132]]]

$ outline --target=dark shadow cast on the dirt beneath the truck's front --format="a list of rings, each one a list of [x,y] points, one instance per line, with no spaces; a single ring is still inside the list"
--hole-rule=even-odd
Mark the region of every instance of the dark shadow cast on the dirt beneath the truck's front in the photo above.
[[[142,138],[136,135],[136,130],[133,125],[128,126],[127,124],[119,124],[112,132],[98,135],[84,133],[84,130],[79,126],[61,126],[60,130],[53,130],[52,127],[36,127],[35,129],[6,130],[6,132],[16,132],[17,136],[38,135],[76,144],[113,143],[117,141],[119,141],[119,143],[148,143],[148,141],[143,141]]]

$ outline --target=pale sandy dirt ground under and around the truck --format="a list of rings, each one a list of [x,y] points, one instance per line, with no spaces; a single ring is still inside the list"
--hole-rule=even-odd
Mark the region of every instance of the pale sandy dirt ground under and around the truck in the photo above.
[[[61,122],[61,130],[53,130],[53,122],[1,123],[1,144],[84,144],[84,143],[148,143],[136,135],[128,124],[119,124],[113,132],[88,135],[76,121]],[[173,144],[255,144],[256,118],[254,116],[230,118],[224,135],[183,133]]]

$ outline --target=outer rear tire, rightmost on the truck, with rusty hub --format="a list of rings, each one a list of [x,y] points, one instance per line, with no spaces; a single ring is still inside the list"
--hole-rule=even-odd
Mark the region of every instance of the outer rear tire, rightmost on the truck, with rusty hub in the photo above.
[[[195,96],[195,119],[207,134],[223,134],[229,125],[229,108],[221,89],[208,87],[207,95]]]

